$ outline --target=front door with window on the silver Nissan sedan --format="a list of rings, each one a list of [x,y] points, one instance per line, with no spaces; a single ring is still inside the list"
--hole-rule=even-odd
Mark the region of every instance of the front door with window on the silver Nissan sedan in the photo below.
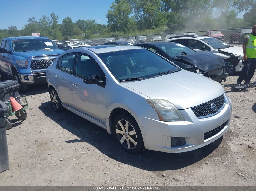
[[[72,80],[75,107],[105,124],[105,87],[85,84],[83,78],[89,75],[98,75],[105,81],[105,74],[97,62],[87,54],[78,53],[75,76]]]

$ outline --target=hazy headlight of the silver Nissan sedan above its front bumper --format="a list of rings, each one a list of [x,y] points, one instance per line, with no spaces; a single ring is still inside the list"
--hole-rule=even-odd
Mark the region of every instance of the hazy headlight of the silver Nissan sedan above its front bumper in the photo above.
[[[162,99],[146,101],[155,109],[160,121],[185,121],[181,112],[172,103]]]

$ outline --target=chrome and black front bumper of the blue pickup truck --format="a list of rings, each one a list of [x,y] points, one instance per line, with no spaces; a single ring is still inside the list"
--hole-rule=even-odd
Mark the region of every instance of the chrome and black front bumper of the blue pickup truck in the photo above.
[[[44,84],[46,82],[46,73],[38,74],[19,74],[20,80],[25,84]]]

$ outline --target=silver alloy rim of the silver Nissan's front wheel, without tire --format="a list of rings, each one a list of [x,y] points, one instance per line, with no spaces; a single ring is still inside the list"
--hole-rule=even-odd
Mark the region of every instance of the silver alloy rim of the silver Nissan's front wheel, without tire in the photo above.
[[[134,149],[137,145],[137,134],[134,127],[126,120],[119,120],[116,124],[116,135],[120,143],[127,149]]]

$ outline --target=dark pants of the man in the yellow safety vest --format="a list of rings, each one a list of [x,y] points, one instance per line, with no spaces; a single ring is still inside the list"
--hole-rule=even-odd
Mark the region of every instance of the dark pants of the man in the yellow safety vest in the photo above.
[[[248,58],[243,62],[244,66],[242,72],[237,79],[238,83],[241,83],[243,80],[249,82],[254,75],[256,69],[256,58]]]

